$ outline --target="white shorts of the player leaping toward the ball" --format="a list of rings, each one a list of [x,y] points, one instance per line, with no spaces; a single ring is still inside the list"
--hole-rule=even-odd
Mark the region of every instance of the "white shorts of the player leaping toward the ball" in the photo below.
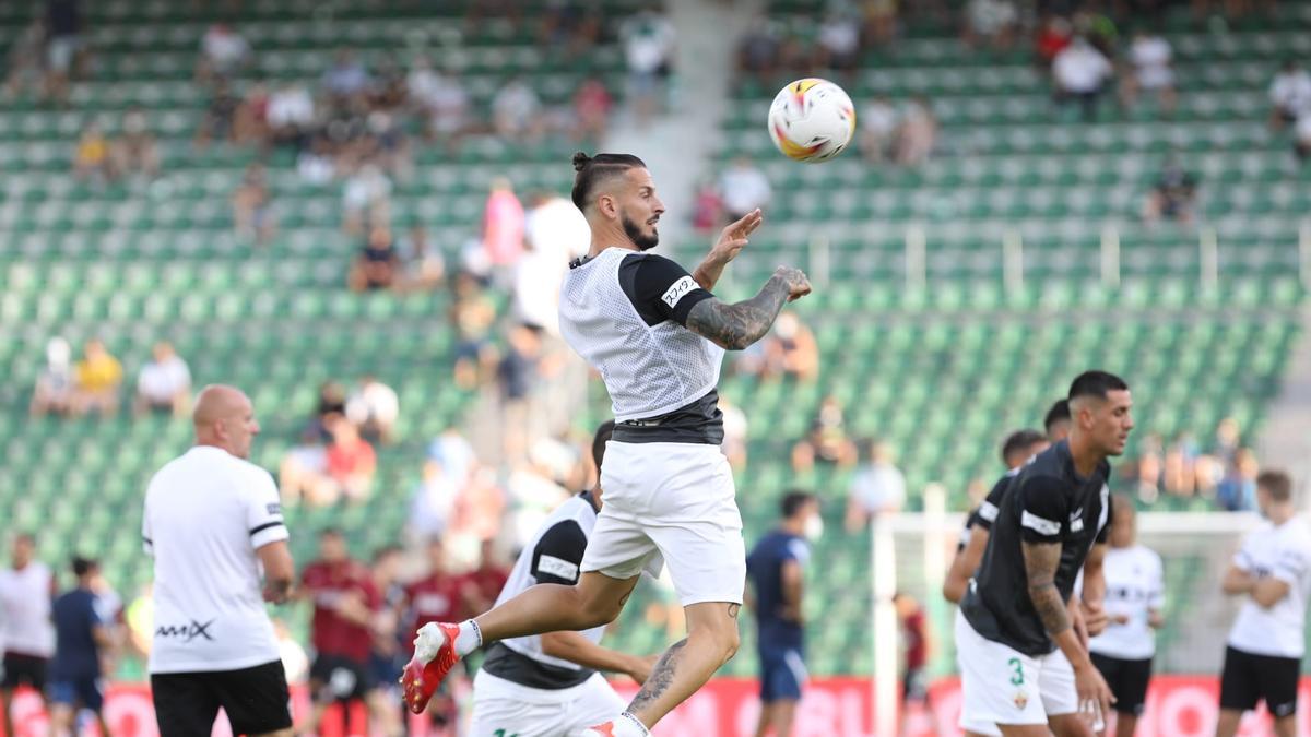
[[[718,446],[610,441],[600,488],[583,572],[624,580],[667,564],[683,606],[742,603],[742,515]]]

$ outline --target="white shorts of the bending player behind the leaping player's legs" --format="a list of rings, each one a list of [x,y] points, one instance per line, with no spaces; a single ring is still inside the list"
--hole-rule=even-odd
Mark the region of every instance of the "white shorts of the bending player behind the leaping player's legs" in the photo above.
[[[480,670],[473,677],[471,737],[572,737],[610,721],[628,703],[599,674],[572,688],[530,688]]]

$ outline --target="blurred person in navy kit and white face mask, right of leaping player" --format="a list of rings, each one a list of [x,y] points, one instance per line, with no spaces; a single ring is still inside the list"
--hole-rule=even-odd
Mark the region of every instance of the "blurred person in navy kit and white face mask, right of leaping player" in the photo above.
[[[760,723],[755,733],[763,737],[773,728],[776,737],[792,734],[792,720],[805,666],[805,568],[810,543],[823,534],[819,501],[806,492],[783,497],[783,521],[760,539],[746,559],[754,591],[756,643],[760,649]]]

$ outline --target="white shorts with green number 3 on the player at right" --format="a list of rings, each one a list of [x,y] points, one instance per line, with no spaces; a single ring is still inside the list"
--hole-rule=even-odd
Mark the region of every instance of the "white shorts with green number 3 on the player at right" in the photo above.
[[[956,654],[961,666],[961,727],[1046,724],[1049,716],[1079,711],[1074,669],[1061,650],[1027,656],[974,631],[956,618]],[[995,734],[995,732],[992,733]]]

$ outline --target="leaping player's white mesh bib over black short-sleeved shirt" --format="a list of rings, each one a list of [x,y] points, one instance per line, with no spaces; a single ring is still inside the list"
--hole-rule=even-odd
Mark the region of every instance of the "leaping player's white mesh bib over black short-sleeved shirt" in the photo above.
[[[620,442],[724,442],[716,384],[724,349],[686,328],[713,295],[682,266],[607,248],[570,264],[560,332],[600,374]]]

